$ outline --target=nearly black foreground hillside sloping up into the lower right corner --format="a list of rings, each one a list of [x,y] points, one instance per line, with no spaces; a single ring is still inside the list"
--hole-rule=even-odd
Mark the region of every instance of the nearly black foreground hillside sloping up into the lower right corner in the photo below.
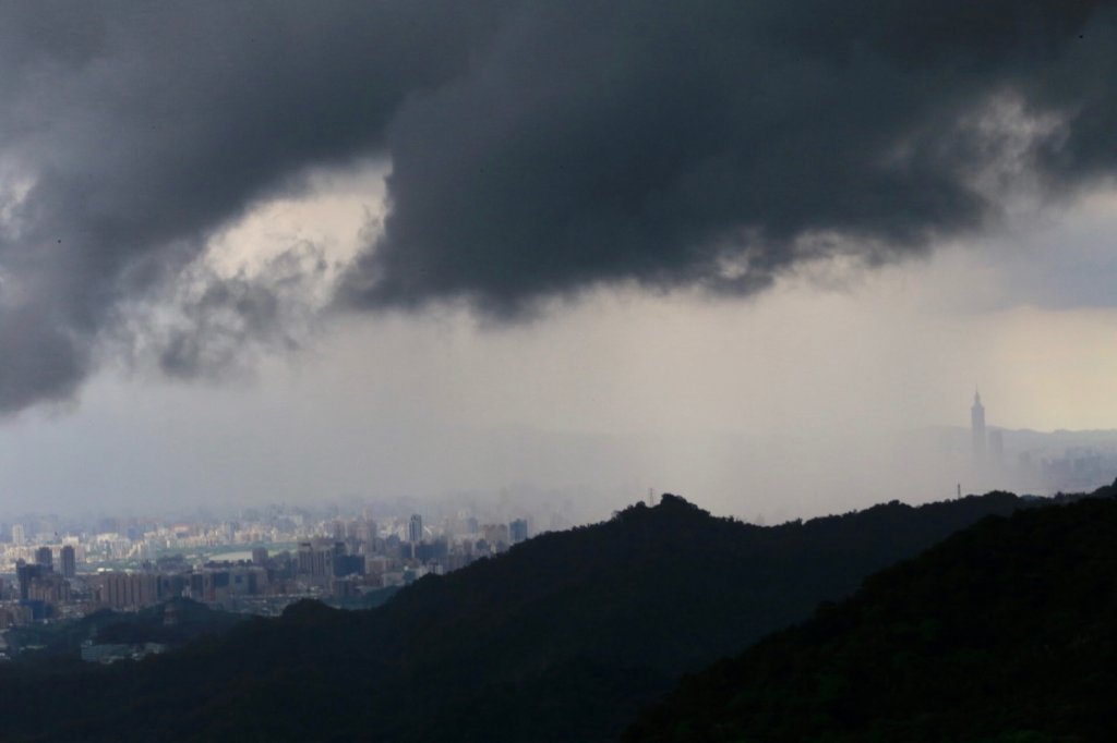
[[[871,577],[686,679],[624,740],[1110,741],[1115,688],[1117,501],[1087,499]]]

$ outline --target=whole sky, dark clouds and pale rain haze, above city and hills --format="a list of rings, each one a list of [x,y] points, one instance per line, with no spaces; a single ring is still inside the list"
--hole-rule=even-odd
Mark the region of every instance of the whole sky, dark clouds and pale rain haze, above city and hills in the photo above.
[[[6,4],[0,511],[949,496],[975,386],[1117,427],[1115,80],[1111,2]]]

